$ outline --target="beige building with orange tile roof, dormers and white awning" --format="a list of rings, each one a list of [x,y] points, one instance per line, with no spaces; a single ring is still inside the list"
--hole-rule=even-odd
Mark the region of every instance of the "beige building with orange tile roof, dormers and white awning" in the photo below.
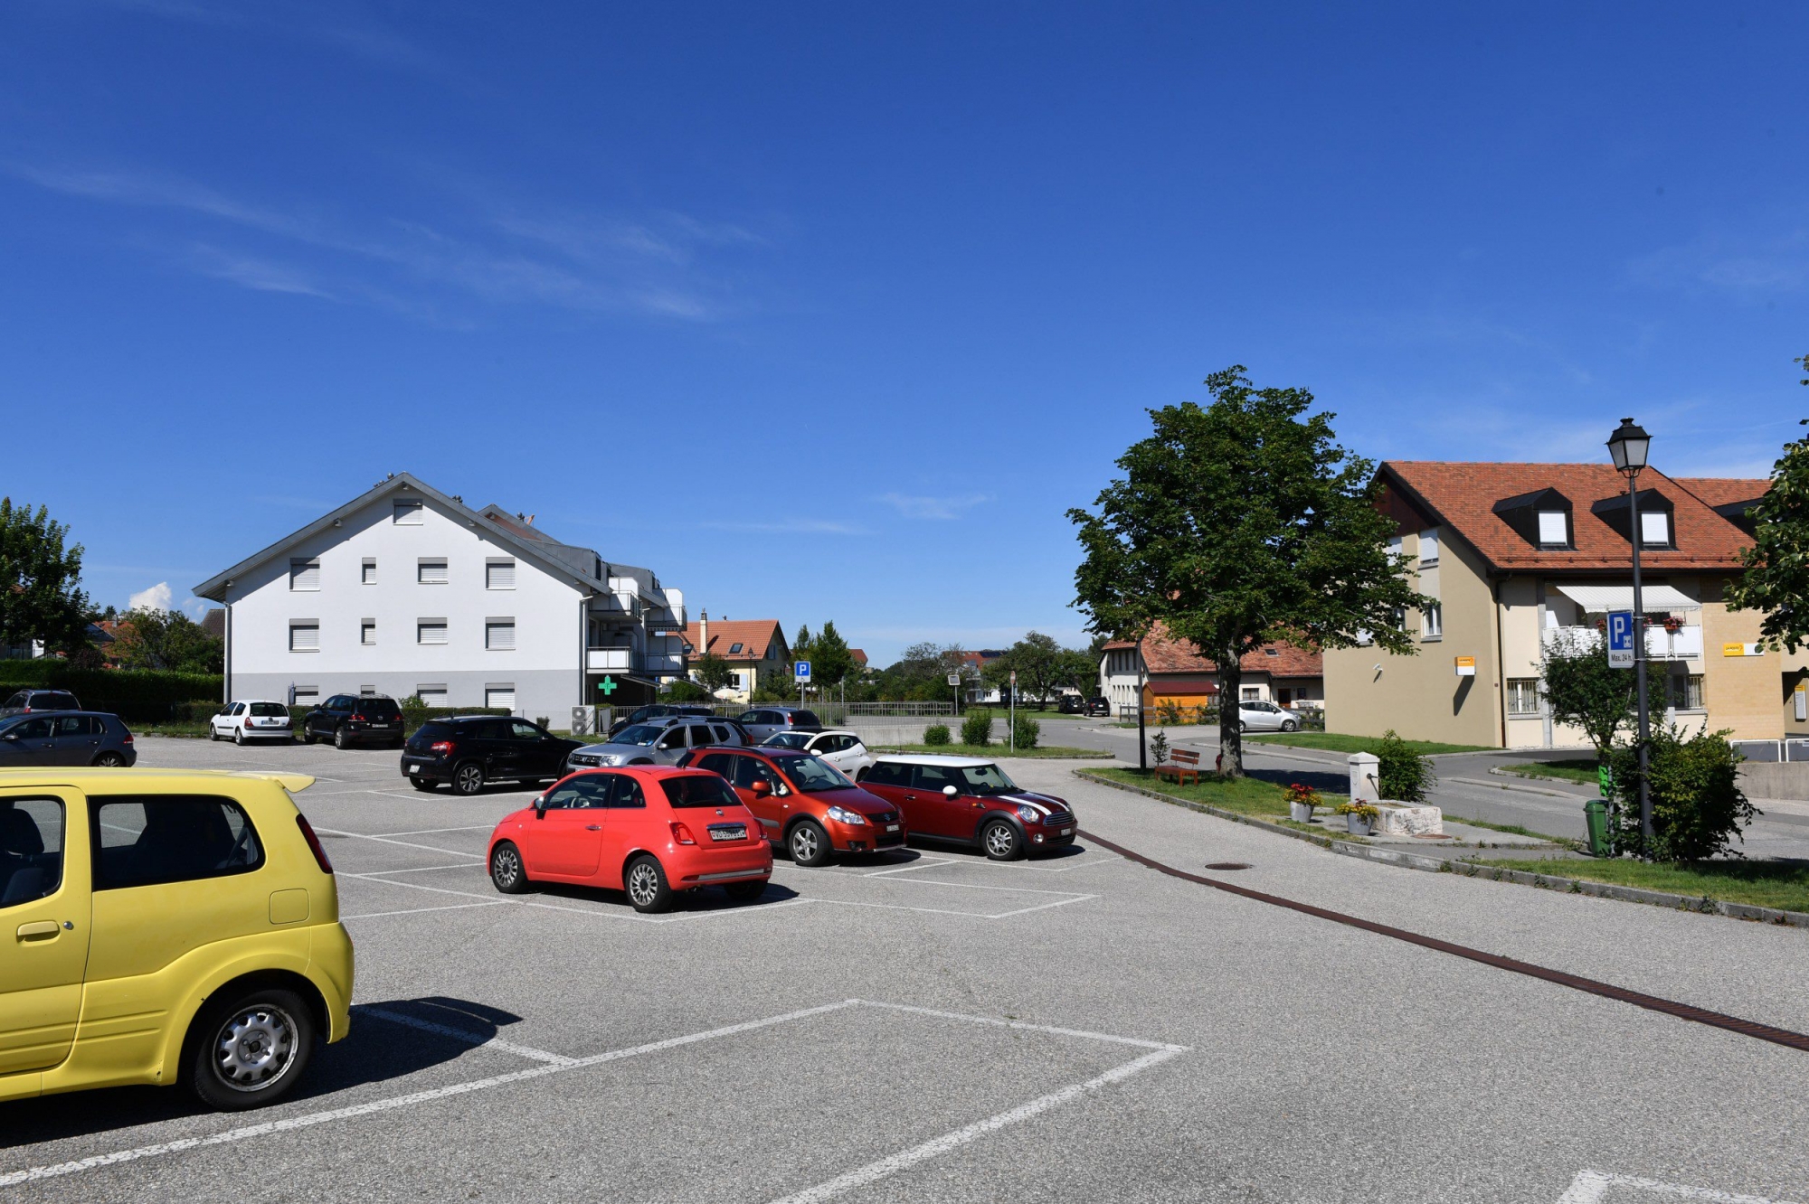
[[[1384,461],[1382,504],[1397,521],[1418,591],[1402,615],[1415,656],[1373,644],[1324,654],[1326,729],[1505,748],[1586,745],[1552,721],[1543,649],[1601,647],[1608,611],[1632,609],[1626,481],[1608,465]],[[1757,649],[1760,616],[1731,613],[1726,586],[1751,542],[1747,512],[1766,481],[1639,477],[1648,696],[1653,716],[1735,739],[1809,736],[1804,660]],[[1632,671],[1630,671],[1632,673]]]

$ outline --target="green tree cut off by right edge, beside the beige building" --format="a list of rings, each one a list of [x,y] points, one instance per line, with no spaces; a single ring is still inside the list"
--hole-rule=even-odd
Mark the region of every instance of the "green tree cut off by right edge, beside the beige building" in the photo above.
[[[1728,609],[1762,611],[1760,638],[1795,654],[1809,644],[1809,437],[1784,445],[1749,517],[1753,546],[1740,551],[1746,571],[1728,584]]]

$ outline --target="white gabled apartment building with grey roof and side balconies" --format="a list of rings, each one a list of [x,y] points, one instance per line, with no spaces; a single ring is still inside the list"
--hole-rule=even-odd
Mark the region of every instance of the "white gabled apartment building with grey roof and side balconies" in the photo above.
[[[405,472],[195,595],[226,607],[228,700],[420,694],[564,727],[684,671],[678,589]]]

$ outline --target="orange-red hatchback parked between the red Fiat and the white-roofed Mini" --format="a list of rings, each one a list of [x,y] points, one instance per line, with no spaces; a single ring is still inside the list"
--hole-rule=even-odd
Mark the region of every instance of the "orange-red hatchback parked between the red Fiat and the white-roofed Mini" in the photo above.
[[[904,817],[841,770],[800,748],[698,748],[691,765],[722,774],[760,819],[767,839],[783,844],[800,866],[821,866],[834,853],[903,848]]]

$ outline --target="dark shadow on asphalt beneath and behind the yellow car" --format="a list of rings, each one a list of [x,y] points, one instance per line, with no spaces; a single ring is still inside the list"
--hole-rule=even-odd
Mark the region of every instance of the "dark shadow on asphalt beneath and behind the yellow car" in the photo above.
[[[440,1030],[384,1020],[376,1012],[407,1016]],[[277,1105],[293,1105],[407,1077],[456,1061],[497,1036],[521,1016],[487,1003],[427,996],[356,1003],[351,1032],[333,1045],[315,1045],[313,1059],[295,1090]],[[0,1150],[63,1141],[161,1121],[210,1114],[185,1086],[109,1086],[67,1096],[42,1096],[0,1105]],[[266,1112],[223,1112],[221,1117],[268,1117]]]

